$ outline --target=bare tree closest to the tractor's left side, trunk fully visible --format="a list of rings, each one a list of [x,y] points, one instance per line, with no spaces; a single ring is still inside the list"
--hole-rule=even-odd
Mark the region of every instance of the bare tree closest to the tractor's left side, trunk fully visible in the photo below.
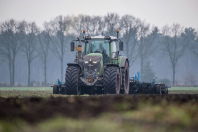
[[[63,80],[64,55],[66,51],[69,51],[69,45],[67,45],[69,40],[66,35],[68,35],[68,31],[71,27],[71,18],[69,16],[58,16],[48,24],[48,28],[53,31],[53,36],[51,37],[51,49],[61,62],[61,80]]]

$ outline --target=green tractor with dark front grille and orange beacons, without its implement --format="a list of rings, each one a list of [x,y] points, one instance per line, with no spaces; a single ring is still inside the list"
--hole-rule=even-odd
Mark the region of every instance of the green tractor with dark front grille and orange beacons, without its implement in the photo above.
[[[114,36],[85,36],[71,42],[74,51],[74,63],[68,63],[65,74],[65,93],[67,95],[82,94],[128,94],[129,93],[129,61],[121,56],[123,42]],[[82,44],[83,43],[83,46]],[[116,49],[119,44],[119,50]],[[82,53],[82,47],[84,52]]]

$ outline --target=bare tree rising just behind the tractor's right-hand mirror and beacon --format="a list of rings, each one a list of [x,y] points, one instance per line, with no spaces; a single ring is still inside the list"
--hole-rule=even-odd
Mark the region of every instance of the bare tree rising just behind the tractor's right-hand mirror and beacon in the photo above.
[[[134,16],[125,15],[120,20],[120,29],[122,39],[124,42],[124,52],[129,59],[129,66],[133,65],[138,56],[137,43],[138,43],[138,28],[140,20]]]

